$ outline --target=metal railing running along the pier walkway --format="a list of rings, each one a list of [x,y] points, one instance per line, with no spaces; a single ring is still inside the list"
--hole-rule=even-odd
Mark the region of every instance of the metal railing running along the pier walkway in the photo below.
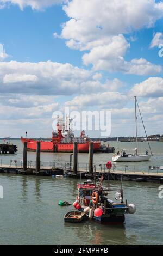
[[[0,160],[0,167],[1,166],[8,166],[8,167],[15,167],[15,168],[23,168],[23,161],[21,160],[10,160],[8,164]],[[36,168],[36,162],[35,161],[27,161],[27,169],[35,169]],[[41,161],[40,163],[40,168],[43,170],[46,169],[55,169],[55,168],[60,168],[60,169],[65,169],[67,171],[73,171],[73,162],[70,161],[65,161],[65,160],[54,160],[54,161]],[[105,163],[95,163],[93,164],[93,170],[96,173],[108,173],[108,169],[106,168]],[[142,173],[160,173],[162,170],[160,167],[146,167],[143,168],[143,170],[138,169],[137,166],[135,165],[115,165],[112,164],[111,168],[112,172],[142,172]],[[78,163],[78,172],[86,172],[89,173],[89,163]]]

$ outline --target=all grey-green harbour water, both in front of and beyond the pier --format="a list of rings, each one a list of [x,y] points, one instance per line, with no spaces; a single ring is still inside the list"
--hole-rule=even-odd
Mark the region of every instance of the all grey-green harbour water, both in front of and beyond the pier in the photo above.
[[[22,159],[22,145],[14,156],[2,156],[8,163]],[[154,156],[150,165],[163,165],[163,143],[151,143]],[[134,148],[133,143],[111,143],[114,147]],[[142,152],[146,143],[140,143]],[[41,154],[42,161],[69,159],[70,154]],[[106,162],[112,154],[95,154],[95,162]],[[79,154],[79,162],[87,162],[87,154]],[[35,153],[28,154],[35,160]],[[148,163],[137,163],[145,168]],[[136,205],[134,215],[126,215],[125,225],[101,225],[95,222],[81,224],[64,223],[64,214],[72,206],[61,207],[59,200],[74,202],[77,196],[77,181],[69,178],[19,176],[0,174],[4,198],[0,199],[0,244],[1,245],[110,245],[110,244],[161,244],[163,245],[163,199],[159,199],[159,184],[136,184],[123,182],[124,199]],[[120,182],[111,181],[119,188]],[[112,195],[114,199],[114,195]]]

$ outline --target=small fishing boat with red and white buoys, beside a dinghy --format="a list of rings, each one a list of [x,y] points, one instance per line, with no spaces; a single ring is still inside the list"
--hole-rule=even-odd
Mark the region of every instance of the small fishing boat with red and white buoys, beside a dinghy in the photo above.
[[[73,203],[74,208],[84,212],[90,220],[103,224],[124,223],[125,214],[134,214],[136,206],[123,200],[122,185],[120,190],[102,186],[103,175],[99,184],[91,180],[78,184],[78,197]],[[115,200],[110,196],[115,193]]]

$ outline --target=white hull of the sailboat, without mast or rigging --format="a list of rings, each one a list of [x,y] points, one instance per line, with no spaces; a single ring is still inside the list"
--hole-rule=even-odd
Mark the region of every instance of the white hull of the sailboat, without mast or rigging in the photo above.
[[[141,161],[149,161],[151,155],[135,155],[135,156],[113,156],[113,162],[141,162]]]

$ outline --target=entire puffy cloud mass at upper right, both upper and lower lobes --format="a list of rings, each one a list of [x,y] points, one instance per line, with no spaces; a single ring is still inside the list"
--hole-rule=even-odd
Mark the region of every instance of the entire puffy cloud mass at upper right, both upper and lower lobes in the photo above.
[[[101,4],[101,0],[72,0],[64,5],[64,10],[70,20],[62,25],[61,38],[72,49],[89,50],[83,55],[85,65],[93,65],[94,70],[134,75],[161,71],[160,66],[143,58],[126,61],[130,44],[122,34],[154,26],[163,17],[162,1],[104,0]]]

